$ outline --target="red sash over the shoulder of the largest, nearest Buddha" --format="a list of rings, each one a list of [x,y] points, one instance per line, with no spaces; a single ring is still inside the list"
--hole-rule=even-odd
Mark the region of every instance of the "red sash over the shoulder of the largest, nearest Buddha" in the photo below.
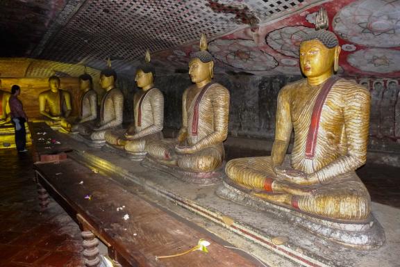
[[[333,84],[338,81],[338,76],[331,76],[324,86],[322,86],[321,92],[317,96],[313,108],[313,115],[311,115],[311,123],[308,128],[307,141],[306,141],[306,159],[313,159],[315,155],[315,145],[317,144],[319,120],[321,119],[322,108],[325,104],[325,99],[328,93],[331,91]]]

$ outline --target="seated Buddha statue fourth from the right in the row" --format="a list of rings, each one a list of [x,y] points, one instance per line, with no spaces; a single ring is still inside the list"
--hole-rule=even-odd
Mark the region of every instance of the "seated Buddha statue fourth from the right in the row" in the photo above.
[[[99,123],[92,129],[90,140],[94,143],[104,145],[106,143],[106,131],[120,129],[122,127],[122,116],[124,109],[124,95],[119,88],[115,87],[117,73],[111,68],[111,61],[108,59],[108,68],[100,73],[100,86],[106,93],[100,103]]]

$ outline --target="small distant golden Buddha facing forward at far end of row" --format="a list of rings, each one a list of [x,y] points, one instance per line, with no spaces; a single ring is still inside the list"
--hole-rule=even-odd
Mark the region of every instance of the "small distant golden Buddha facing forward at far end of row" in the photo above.
[[[71,95],[60,89],[60,78],[51,76],[49,78],[50,90],[39,94],[40,114],[47,117],[45,122],[50,126],[62,127],[69,131],[67,118],[71,114]]]

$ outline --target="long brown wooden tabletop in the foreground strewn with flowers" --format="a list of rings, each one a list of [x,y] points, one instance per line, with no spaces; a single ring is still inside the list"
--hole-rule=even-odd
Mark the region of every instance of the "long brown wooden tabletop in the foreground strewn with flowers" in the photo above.
[[[117,182],[67,159],[58,164],[35,164],[45,188],[60,195],[81,214],[97,233],[131,266],[258,266],[242,255],[224,248],[206,232],[199,232],[182,218],[130,193]],[[52,194],[51,192],[49,192]],[[85,199],[92,195],[92,200]],[[117,208],[124,207],[122,211]],[[128,214],[129,219],[124,220]],[[182,257],[160,259],[210,241],[209,252],[195,251]]]

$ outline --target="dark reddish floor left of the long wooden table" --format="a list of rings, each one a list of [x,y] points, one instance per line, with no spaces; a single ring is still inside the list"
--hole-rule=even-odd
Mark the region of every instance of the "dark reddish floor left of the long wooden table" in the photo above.
[[[78,267],[78,225],[53,200],[40,213],[31,151],[0,149],[0,266]]]

